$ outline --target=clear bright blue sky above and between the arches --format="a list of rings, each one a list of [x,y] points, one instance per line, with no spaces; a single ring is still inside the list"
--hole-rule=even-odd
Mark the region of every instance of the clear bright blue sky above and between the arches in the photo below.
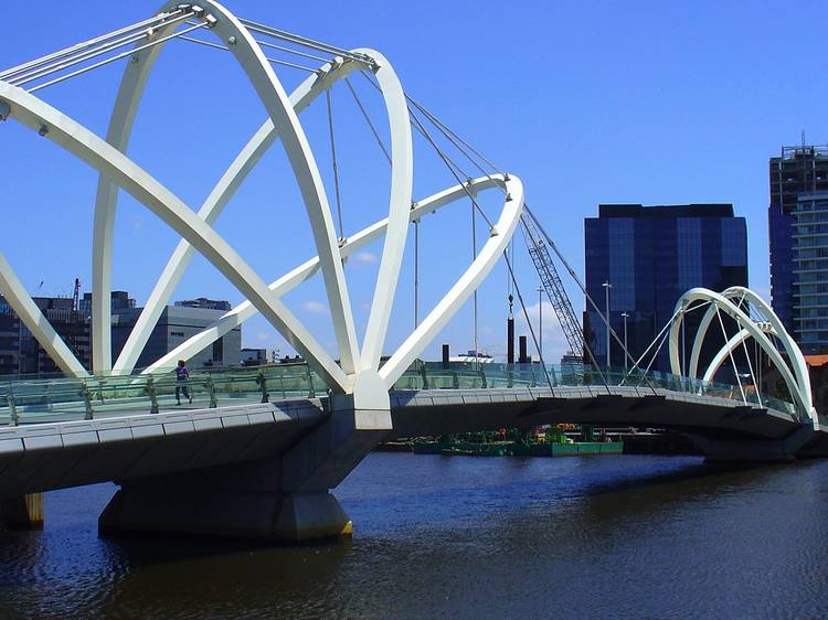
[[[38,10],[7,3],[0,22],[0,66],[9,67],[151,15],[157,4],[44,0]],[[783,143],[828,142],[821,51],[828,6],[820,2],[485,2],[410,3],[236,1],[237,14],[342,47],[369,46],[393,63],[408,93],[526,183],[530,204],[580,271],[583,218],[602,202],[730,202],[747,218],[751,286],[767,296],[767,159]],[[117,9],[115,8],[117,7]],[[104,133],[123,65],[42,92]],[[291,89],[305,75],[277,70]],[[386,131],[375,94],[354,81]],[[388,165],[348,92],[333,90],[346,232],[388,209]],[[264,109],[229,54],[177,42],[158,63],[129,154],[188,204],[198,207]],[[332,195],[325,107],[302,116]],[[71,295],[75,277],[91,282],[96,175],[17,126],[0,126],[2,252],[26,287]],[[422,140],[416,142],[415,197],[453,184]],[[278,148],[229,205],[219,231],[263,275],[275,279],[308,258],[309,227]],[[493,197],[485,199],[490,216]],[[449,212],[450,211],[450,212]],[[471,254],[468,204],[424,221],[422,307],[436,302]],[[480,234],[481,240],[485,235]],[[149,212],[121,196],[116,231],[116,288],[141,303],[176,238]],[[350,261],[358,327],[364,328],[381,246]],[[401,279],[390,345],[413,323],[411,256]],[[523,253],[519,279],[537,317],[537,275]],[[40,282],[43,282],[40,286]],[[498,267],[479,293],[479,342],[505,351],[506,272]],[[583,299],[570,292],[576,310]],[[206,261],[197,259],[174,299],[240,301]],[[319,281],[287,302],[333,350]],[[546,309],[548,357],[563,349]],[[261,319],[245,327],[248,345],[284,341]],[[439,343],[471,348],[470,307]]]

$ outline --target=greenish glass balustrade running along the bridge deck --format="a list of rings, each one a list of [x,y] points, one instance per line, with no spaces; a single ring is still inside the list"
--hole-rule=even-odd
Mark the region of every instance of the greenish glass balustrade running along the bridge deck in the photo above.
[[[753,386],[691,381],[669,374],[540,364],[474,364],[416,361],[393,389],[602,388],[625,386],[670,391],[762,405],[797,416],[790,403],[757,393]],[[306,364],[222,367],[193,372],[178,382],[172,372],[116,375],[96,373],[85,378],[18,377],[0,382],[0,425],[140,415],[182,407],[210,408],[241,403],[323,396],[328,386]],[[187,392],[187,394],[184,393]],[[190,404],[190,398],[192,404]]]

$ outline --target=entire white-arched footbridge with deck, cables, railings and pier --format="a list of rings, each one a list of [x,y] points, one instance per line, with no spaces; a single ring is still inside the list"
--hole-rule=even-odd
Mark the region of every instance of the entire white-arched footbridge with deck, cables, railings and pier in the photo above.
[[[211,54],[226,53],[231,65],[248,81],[250,94],[266,111],[264,122],[212,189],[205,188],[208,197],[201,205],[188,204],[172,191],[177,183],[164,184],[151,174],[156,162],[136,161],[134,153],[127,152],[145,88],[161,51],[193,44],[209,49]],[[54,85],[82,79],[115,62],[123,64],[123,78],[105,137],[44,98]],[[319,64],[308,66],[314,63]],[[288,94],[276,70],[308,75]],[[224,88],[220,76],[208,73],[211,83]],[[355,87],[350,76],[354,84],[357,76],[363,79]],[[374,154],[383,167],[389,164],[388,210],[383,203],[380,218],[361,229],[346,228],[341,204],[331,90],[341,90],[342,86],[361,115],[355,118],[370,129],[364,135],[370,137],[371,147],[374,141],[379,147]],[[360,89],[374,97],[372,105],[363,105]],[[167,96],[163,88],[161,94]],[[330,146],[327,178],[299,119],[308,107],[319,106],[320,98],[327,104],[328,124],[322,131]],[[204,100],[209,98],[200,98],[190,108],[184,101],[176,105],[201,109]],[[378,122],[370,114],[375,109],[381,110]],[[550,264],[544,263],[546,277],[541,280],[555,287],[553,292],[546,291],[548,297],[565,309],[561,321],[566,334],[584,344],[572,349],[583,349],[590,355],[586,370],[421,362],[427,348],[467,303],[474,308],[477,349],[477,290],[501,261],[532,329],[509,249],[521,225],[530,233],[523,218],[529,211],[522,181],[480,156],[403,90],[391,63],[375,50],[346,50],[288,33],[238,18],[214,0],[168,1],[149,19],[1,71],[0,121],[19,124],[31,130],[32,139],[45,140],[50,148],[62,149],[98,174],[91,247],[92,370],[46,320],[11,261],[0,254],[0,293],[64,374],[62,378],[0,385],[0,498],[112,480],[121,489],[102,515],[104,530],[297,541],[348,531],[348,517],[329,490],[389,438],[555,421],[625,424],[676,428],[691,436],[711,458],[776,460],[813,448],[815,438],[821,436],[802,353],[769,308],[741,287],[722,292],[693,289],[678,301],[675,316],[654,341],[657,354],[669,339],[672,375],[649,372],[649,351],[635,360],[625,343],[619,344],[630,365],[628,372],[597,370],[599,364],[580,333],[550,258]],[[227,126],[243,126],[235,121],[231,118]],[[3,127],[0,124],[0,131]],[[440,168],[444,174],[450,175],[448,186],[440,182],[436,192],[417,200],[413,195],[415,131],[427,147],[425,152],[436,158],[438,165],[445,165],[445,170]],[[349,133],[349,139],[353,135]],[[176,145],[173,136],[164,139]],[[205,145],[203,148],[212,147],[209,141]],[[288,264],[287,271],[267,284],[273,275],[267,274],[265,279],[257,272],[214,224],[274,145],[284,150],[286,168],[299,190],[296,202],[307,214],[311,233],[307,246],[312,249],[305,263]],[[17,150],[11,157],[19,157]],[[187,157],[181,160],[185,162]],[[364,163],[360,161],[361,171],[368,170]],[[469,164],[473,168],[463,168]],[[194,172],[197,179],[204,178],[203,171]],[[359,181],[368,184],[375,179],[364,173]],[[417,186],[431,183],[431,179],[417,181]],[[335,188],[333,200],[326,184]],[[284,186],[277,184],[266,196],[267,203],[280,200],[283,192]],[[112,281],[119,193],[129,194],[180,240],[113,360]],[[370,202],[365,196],[374,194],[360,194],[359,207],[364,212],[359,215],[370,213],[370,205],[363,203]],[[458,203],[471,207],[471,256],[457,280],[439,292],[433,308],[421,317],[421,221],[428,218],[431,223],[432,215],[459,209]],[[336,205],[336,217],[331,205]],[[288,207],[280,205],[274,216],[293,220],[296,214]],[[499,211],[487,214],[487,209]],[[533,215],[532,220],[537,225]],[[266,225],[257,218],[251,222]],[[487,234],[478,238],[478,228]],[[33,232],[33,236],[39,233]],[[531,234],[529,237],[528,250],[535,258],[548,254],[539,252],[544,243],[553,245],[545,233],[545,242]],[[382,243],[382,255],[364,332],[358,335],[346,268],[348,258],[370,243]],[[139,356],[197,254],[237,289],[243,301],[139,374]],[[435,260],[437,268],[445,263],[444,254],[445,249]],[[392,310],[399,310],[395,300],[406,256],[414,258],[413,329],[401,342],[392,342],[389,328]],[[464,268],[459,253],[450,259]],[[316,275],[323,285],[333,339],[312,333],[307,317],[284,300]],[[575,280],[585,292],[576,276]],[[686,365],[678,334],[684,317],[699,310],[703,310],[703,318]],[[257,313],[308,364],[194,373],[188,386],[193,403],[178,405],[176,388],[181,385],[170,374],[176,361],[211,346]],[[732,336],[724,333],[723,316],[739,328]],[[608,318],[601,317],[617,336]],[[709,328],[715,329],[716,320],[724,345],[704,371],[700,368],[702,342]],[[749,339],[781,373],[789,403],[757,392],[760,382],[750,355],[750,372],[736,367],[735,356]],[[332,340],[331,345],[322,345],[325,340]],[[542,359],[540,349],[537,346]],[[384,357],[386,354],[389,357]],[[728,361],[734,366],[737,385],[716,385],[716,373]],[[743,374],[751,381],[743,383]]]

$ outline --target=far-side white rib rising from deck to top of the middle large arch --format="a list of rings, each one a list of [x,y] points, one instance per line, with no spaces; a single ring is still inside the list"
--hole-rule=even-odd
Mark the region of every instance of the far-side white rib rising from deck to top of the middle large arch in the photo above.
[[[362,66],[358,61],[347,61],[339,66],[325,65],[323,75],[306,78],[290,95],[290,103],[297,114],[301,113],[335,81],[346,77]],[[327,71],[329,67],[330,71]],[[212,225],[235,194],[259,159],[278,140],[278,131],[269,118],[253,135],[240,151],[199,210],[199,216]],[[141,354],[164,306],[183,277],[193,256],[192,246],[182,239],[173,250],[158,282],[147,300],[135,327],[129,333],[120,355],[115,362],[115,372],[131,372]]]

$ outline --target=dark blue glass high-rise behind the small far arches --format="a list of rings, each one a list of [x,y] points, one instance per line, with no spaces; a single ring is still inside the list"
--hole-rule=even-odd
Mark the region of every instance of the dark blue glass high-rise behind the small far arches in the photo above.
[[[586,290],[605,312],[608,285],[611,324],[624,339],[626,321],[634,359],[656,339],[689,289],[747,286],[745,220],[734,217],[731,204],[602,204],[598,217],[584,221],[584,237]],[[689,314],[686,329],[692,330],[698,318]],[[597,362],[605,364],[606,328],[588,302],[584,333]],[[713,335],[705,342],[702,359],[724,340]],[[613,341],[609,352],[611,364],[624,367],[623,348]],[[651,370],[669,372],[667,344]]]

